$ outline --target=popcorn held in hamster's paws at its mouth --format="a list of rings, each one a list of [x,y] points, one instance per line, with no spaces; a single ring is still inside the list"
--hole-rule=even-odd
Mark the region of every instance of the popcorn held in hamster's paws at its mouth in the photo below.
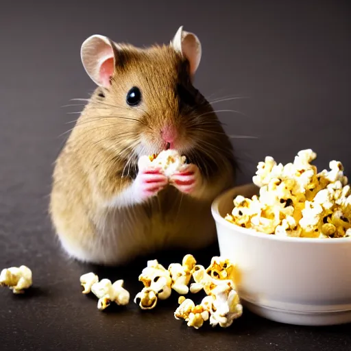
[[[173,173],[180,171],[186,164],[186,157],[181,156],[175,149],[167,149],[160,154],[150,156],[142,156],[139,160],[141,165],[156,165],[160,166],[165,175],[170,177]]]

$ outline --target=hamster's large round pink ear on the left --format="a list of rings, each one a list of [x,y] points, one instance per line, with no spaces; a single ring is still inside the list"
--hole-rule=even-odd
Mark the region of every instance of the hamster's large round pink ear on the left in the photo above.
[[[98,86],[110,86],[110,77],[118,61],[118,48],[106,36],[87,38],[80,49],[80,57],[86,73]]]

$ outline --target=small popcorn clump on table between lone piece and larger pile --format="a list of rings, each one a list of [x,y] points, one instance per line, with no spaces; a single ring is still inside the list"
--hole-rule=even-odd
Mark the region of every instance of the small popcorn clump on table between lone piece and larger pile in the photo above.
[[[118,305],[126,305],[130,300],[130,293],[123,288],[124,281],[117,280],[112,284],[109,279],[101,279],[93,272],[83,274],[80,277],[80,282],[84,291],[82,293],[87,294],[92,292],[99,301],[97,302],[97,308],[102,311],[112,302]]]

